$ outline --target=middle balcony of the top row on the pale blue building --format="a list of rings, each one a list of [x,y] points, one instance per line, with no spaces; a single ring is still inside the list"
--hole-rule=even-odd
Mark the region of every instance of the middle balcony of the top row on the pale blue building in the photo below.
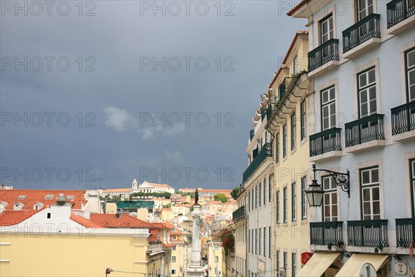
[[[343,31],[343,57],[353,59],[380,43],[380,15],[372,13]]]

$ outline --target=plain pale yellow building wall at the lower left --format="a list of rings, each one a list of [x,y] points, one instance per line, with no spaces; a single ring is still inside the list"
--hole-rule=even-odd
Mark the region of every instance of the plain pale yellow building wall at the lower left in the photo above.
[[[93,236],[93,233],[92,235]],[[10,243],[10,245],[7,245]],[[105,276],[107,267],[137,274],[112,272],[109,276],[144,276],[147,238],[120,235],[0,235],[0,276]],[[10,260],[5,262],[3,260]]]

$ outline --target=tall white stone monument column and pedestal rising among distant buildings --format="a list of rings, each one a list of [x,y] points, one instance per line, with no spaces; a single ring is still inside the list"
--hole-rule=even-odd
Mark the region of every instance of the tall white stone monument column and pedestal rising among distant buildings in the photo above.
[[[203,270],[202,257],[201,257],[201,233],[199,230],[199,224],[201,224],[200,218],[200,206],[193,206],[193,231],[192,231],[192,254],[190,256],[190,267],[187,267],[187,276],[189,277],[204,277],[205,271]]]

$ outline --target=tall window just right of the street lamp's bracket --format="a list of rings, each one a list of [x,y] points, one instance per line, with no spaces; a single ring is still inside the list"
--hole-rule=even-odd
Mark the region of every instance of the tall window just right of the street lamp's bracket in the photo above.
[[[380,220],[379,168],[360,170],[362,220]]]

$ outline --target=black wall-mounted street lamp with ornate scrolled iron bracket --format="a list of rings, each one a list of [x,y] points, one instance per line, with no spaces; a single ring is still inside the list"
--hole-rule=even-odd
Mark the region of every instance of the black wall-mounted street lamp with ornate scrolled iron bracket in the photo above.
[[[342,190],[347,193],[347,196],[350,197],[350,172],[347,170],[347,173],[342,172],[335,172],[332,170],[326,170],[326,169],[317,169],[315,168],[315,163],[313,164],[313,172],[314,172],[314,179],[311,185],[308,187],[308,190],[306,190],[306,197],[308,200],[308,204],[311,207],[320,207],[322,206],[323,201],[323,195],[324,190],[322,189],[322,186],[320,186],[317,183],[317,179],[315,178],[315,172],[316,171],[324,171],[329,173],[331,177],[335,180],[335,184],[337,186],[340,186]]]

